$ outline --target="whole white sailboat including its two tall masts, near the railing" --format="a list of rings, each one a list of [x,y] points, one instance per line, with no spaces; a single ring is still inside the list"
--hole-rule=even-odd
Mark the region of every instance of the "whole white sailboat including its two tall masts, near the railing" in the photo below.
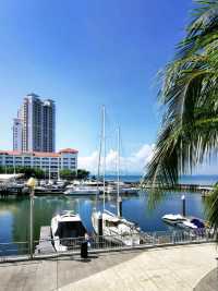
[[[104,209],[95,209],[92,214],[92,222],[95,232],[104,235],[106,240],[124,245],[137,245],[141,242],[141,229],[134,222],[124,219],[120,213],[120,129],[118,128],[118,159],[117,159],[117,215],[108,211],[105,207],[105,174],[106,174],[106,135],[105,135],[105,107],[102,108],[102,135],[104,141]],[[100,142],[100,150],[101,150]],[[100,161],[100,158],[99,158]],[[101,223],[99,223],[101,221]],[[101,228],[101,229],[100,229]]]

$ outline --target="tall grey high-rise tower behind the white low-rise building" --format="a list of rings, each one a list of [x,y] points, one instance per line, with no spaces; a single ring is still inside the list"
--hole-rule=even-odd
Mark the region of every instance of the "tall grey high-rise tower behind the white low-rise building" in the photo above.
[[[22,140],[22,151],[56,150],[56,106],[53,100],[41,100],[36,94],[28,94],[19,110],[22,134],[13,133],[13,144]],[[15,126],[13,128],[15,130]],[[16,148],[14,147],[14,150]]]

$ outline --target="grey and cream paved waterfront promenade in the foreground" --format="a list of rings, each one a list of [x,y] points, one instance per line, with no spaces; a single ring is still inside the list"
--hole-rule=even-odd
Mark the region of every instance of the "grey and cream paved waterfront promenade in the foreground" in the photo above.
[[[206,243],[1,264],[0,290],[191,291],[216,256],[216,244]]]

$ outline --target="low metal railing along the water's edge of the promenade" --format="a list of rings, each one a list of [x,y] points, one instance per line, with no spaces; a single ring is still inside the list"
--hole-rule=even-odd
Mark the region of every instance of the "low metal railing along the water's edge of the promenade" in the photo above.
[[[141,232],[123,235],[93,235],[88,240],[85,240],[85,238],[64,238],[56,241],[49,239],[34,241],[35,253],[33,257],[46,258],[57,255],[80,254],[83,242],[87,242],[89,253],[95,253],[206,243],[215,240],[216,234],[208,229]],[[0,262],[29,259],[29,250],[28,242],[0,243]]]

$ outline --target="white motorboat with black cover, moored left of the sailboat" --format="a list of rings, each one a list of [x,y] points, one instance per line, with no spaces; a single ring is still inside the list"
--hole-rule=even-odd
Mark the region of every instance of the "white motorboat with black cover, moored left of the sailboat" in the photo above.
[[[83,241],[87,230],[78,214],[65,210],[51,219],[51,234],[57,252],[70,250]]]

